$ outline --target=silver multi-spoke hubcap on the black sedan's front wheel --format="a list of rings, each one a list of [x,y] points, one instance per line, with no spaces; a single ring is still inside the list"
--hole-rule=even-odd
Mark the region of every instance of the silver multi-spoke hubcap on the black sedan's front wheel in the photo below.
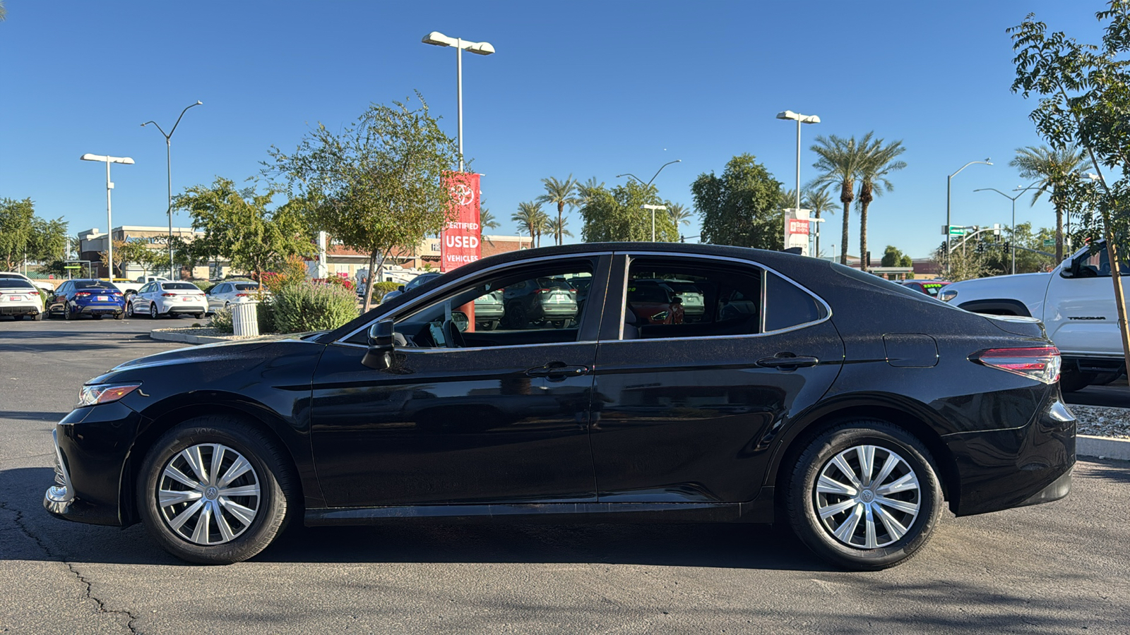
[[[238,538],[255,520],[259,498],[259,477],[251,463],[218,443],[174,454],[157,485],[157,507],[165,524],[197,545]]]

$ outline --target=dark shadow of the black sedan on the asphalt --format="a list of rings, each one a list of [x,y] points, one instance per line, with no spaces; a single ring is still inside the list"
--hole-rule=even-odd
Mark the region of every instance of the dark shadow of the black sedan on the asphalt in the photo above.
[[[46,560],[189,565],[165,553],[140,524],[121,529],[67,522],[43,508],[50,468],[0,471],[7,516]],[[28,547],[32,547],[28,542]],[[0,548],[0,562],[14,557]],[[748,569],[836,571],[792,533],[760,524],[516,524],[403,521],[373,527],[292,525],[261,563],[575,563]]]

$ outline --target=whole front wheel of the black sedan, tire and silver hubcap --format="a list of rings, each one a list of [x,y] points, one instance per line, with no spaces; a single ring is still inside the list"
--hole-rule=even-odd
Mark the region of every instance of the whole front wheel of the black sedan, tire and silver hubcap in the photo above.
[[[223,416],[165,433],[138,475],[138,510],[165,550],[200,564],[259,554],[282,532],[297,499],[282,451],[261,430]]]

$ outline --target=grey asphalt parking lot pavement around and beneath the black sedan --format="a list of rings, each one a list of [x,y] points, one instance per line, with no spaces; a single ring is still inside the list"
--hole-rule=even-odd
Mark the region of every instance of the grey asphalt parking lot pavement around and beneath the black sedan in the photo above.
[[[78,386],[183,345],[173,321],[0,322],[0,633],[1127,633],[1130,464],[1085,460],[1064,501],[946,517],[879,573],[751,525],[296,529],[186,565],[141,527],[42,508]],[[190,321],[181,321],[188,325]],[[1088,389],[1089,390],[1089,389]]]

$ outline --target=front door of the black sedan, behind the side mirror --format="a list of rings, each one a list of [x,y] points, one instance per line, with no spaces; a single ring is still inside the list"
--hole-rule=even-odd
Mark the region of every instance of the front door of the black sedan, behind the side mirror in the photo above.
[[[602,302],[567,327],[476,331],[464,313],[544,275],[590,276],[602,298],[608,255],[488,269],[382,315],[398,340],[383,371],[362,365],[367,327],[327,347],[311,437],[330,506],[596,501],[588,426]]]

